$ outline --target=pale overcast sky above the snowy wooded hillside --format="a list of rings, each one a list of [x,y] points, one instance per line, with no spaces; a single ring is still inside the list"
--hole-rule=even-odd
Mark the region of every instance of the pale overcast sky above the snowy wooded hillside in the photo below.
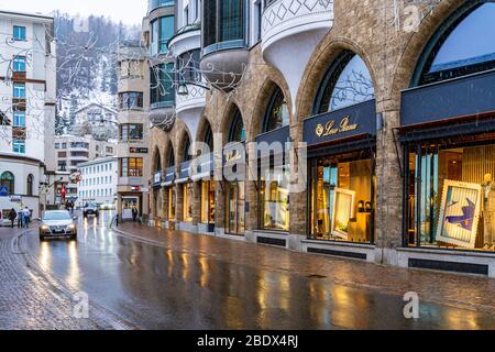
[[[128,24],[141,24],[146,8],[147,0],[0,0],[0,10],[42,14],[58,10],[70,14],[110,16]]]

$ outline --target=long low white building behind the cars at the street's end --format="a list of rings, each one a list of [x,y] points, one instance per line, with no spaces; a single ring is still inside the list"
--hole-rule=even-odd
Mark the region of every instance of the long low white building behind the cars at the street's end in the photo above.
[[[79,165],[81,180],[78,185],[76,206],[87,202],[116,205],[118,167],[117,157],[98,158]]]

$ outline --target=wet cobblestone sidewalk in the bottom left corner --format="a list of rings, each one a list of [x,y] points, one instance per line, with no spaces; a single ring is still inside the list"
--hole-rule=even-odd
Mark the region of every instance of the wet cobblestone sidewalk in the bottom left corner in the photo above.
[[[0,330],[111,329],[98,316],[76,319],[72,295],[13,245],[20,230],[0,228]]]

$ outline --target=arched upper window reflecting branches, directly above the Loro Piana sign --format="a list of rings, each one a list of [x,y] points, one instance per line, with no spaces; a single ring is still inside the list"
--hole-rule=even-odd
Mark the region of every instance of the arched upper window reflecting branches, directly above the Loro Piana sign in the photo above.
[[[345,108],[375,97],[373,80],[364,61],[350,51],[330,66],[315,101],[315,114]]]

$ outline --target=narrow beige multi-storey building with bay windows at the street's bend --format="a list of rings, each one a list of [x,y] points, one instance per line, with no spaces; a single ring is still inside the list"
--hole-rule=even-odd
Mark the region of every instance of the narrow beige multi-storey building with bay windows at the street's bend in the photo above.
[[[148,215],[150,89],[146,55],[140,43],[127,43],[119,52],[118,213],[132,218],[132,209]]]

